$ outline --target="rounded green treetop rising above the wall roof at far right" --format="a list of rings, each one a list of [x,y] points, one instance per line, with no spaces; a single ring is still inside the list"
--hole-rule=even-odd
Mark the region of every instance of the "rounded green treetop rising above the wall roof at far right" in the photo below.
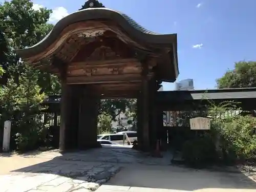
[[[256,87],[256,62],[236,62],[234,69],[217,79],[217,86],[219,89]]]

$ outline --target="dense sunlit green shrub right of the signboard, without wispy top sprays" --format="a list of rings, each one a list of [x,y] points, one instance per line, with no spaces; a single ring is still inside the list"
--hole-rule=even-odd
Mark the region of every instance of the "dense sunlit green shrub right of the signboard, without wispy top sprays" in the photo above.
[[[255,123],[254,117],[241,115],[212,122],[212,131],[219,135],[219,153],[225,162],[255,159]]]

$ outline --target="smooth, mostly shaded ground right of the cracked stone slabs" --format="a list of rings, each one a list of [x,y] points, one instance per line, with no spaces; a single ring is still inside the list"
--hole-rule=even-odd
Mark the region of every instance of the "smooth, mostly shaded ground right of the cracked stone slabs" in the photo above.
[[[210,190],[215,188],[215,190]],[[239,172],[216,172],[206,169],[191,169],[181,166],[140,165],[126,166],[110,181],[100,186],[97,192],[138,191],[232,191],[256,189],[256,183]],[[207,190],[205,190],[207,189]],[[254,190],[256,191],[256,190]],[[117,191],[115,191],[117,192]]]

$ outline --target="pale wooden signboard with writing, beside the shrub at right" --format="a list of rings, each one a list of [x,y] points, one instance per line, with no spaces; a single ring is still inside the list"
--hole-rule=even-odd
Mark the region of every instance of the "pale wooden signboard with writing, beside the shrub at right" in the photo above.
[[[190,130],[209,130],[210,129],[210,118],[196,117],[189,119]]]

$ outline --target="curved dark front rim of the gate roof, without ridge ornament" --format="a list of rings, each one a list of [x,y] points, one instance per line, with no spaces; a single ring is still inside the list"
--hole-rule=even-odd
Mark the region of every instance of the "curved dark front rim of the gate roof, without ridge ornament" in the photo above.
[[[67,26],[93,19],[109,19],[117,22],[131,37],[138,41],[143,41],[148,44],[175,44],[177,47],[177,34],[158,34],[147,30],[135,22],[131,17],[126,14],[108,8],[88,8],[76,11],[61,20],[54,26],[51,32],[36,45],[16,50],[16,53],[21,57],[30,57],[34,54],[41,52],[49,47],[52,42],[58,37],[63,29]]]

